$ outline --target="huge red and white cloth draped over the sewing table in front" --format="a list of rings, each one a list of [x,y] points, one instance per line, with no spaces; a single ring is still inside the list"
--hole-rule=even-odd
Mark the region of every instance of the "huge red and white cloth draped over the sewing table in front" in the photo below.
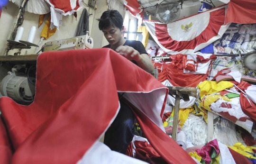
[[[117,91],[125,92],[148,141],[166,162],[193,162],[164,132],[161,116],[167,88],[111,49],[86,49],[38,56],[36,96],[31,105],[0,98],[2,117],[16,150],[12,163],[76,163],[116,117]],[[180,159],[174,160],[176,156]]]

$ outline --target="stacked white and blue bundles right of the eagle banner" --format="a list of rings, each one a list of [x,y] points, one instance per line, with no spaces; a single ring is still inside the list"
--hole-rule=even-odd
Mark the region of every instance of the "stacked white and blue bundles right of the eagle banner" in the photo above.
[[[225,34],[213,43],[214,54],[247,54],[256,50],[256,24],[231,24]]]

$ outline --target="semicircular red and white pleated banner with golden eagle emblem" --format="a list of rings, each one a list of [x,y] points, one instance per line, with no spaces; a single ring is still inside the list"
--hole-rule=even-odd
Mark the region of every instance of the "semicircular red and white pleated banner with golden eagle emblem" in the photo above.
[[[170,24],[144,20],[155,42],[170,55],[191,54],[218,40],[228,29],[228,5],[214,8]]]

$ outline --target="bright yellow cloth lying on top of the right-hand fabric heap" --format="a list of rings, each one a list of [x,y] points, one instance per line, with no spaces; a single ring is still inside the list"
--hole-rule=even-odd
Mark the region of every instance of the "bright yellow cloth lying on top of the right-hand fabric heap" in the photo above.
[[[219,83],[215,81],[204,81],[198,85],[198,88],[200,89],[200,97],[202,99],[203,96],[207,94],[217,93],[219,91],[225,90],[227,88],[231,88],[233,86],[234,86],[233,83],[226,82],[226,81],[222,81]]]

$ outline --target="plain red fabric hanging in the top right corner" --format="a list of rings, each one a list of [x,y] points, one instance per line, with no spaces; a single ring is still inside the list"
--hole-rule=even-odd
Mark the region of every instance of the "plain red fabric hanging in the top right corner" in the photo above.
[[[255,0],[230,0],[225,23],[256,23]]]

